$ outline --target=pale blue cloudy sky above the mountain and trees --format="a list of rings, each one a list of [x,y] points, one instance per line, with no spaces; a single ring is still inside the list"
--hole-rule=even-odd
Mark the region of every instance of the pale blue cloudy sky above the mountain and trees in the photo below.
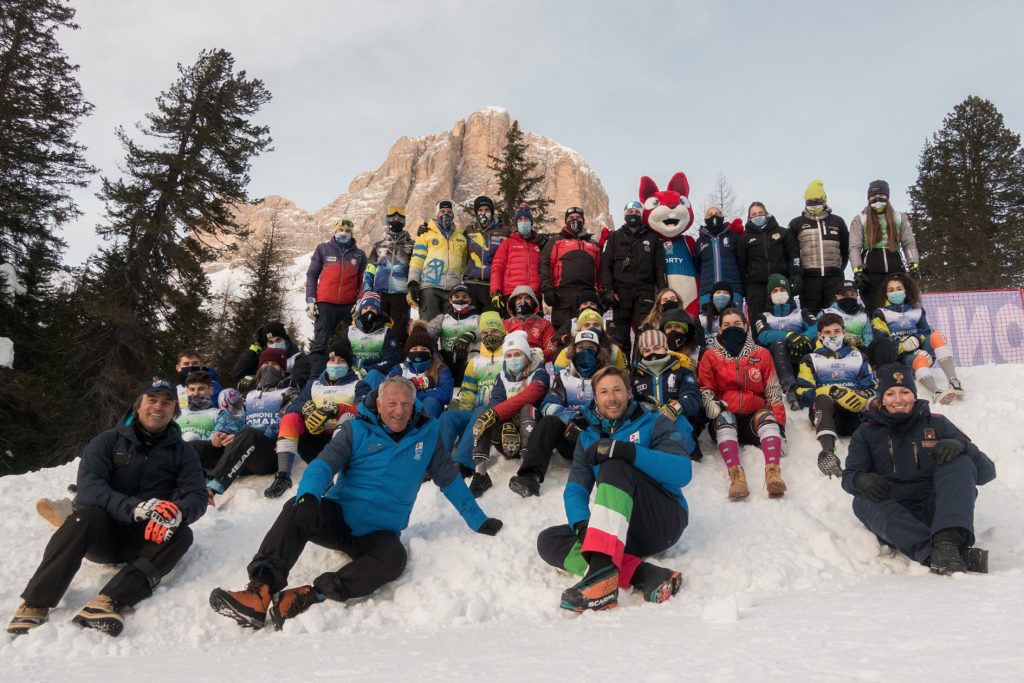
[[[401,135],[449,129],[480,106],[580,152],[614,214],[642,175],[716,175],[780,222],[824,180],[850,219],[868,181],[897,208],[926,139],[970,94],[1024,130],[1015,2],[111,2],[78,0],[62,42],[96,109],[88,158],[116,176],[132,128],[203,48],[230,50],[274,95],[260,119],[274,152],[250,194],[316,210]],[[1013,67],[1017,65],[1017,67]],[[102,207],[79,195],[68,260],[98,244]]]

